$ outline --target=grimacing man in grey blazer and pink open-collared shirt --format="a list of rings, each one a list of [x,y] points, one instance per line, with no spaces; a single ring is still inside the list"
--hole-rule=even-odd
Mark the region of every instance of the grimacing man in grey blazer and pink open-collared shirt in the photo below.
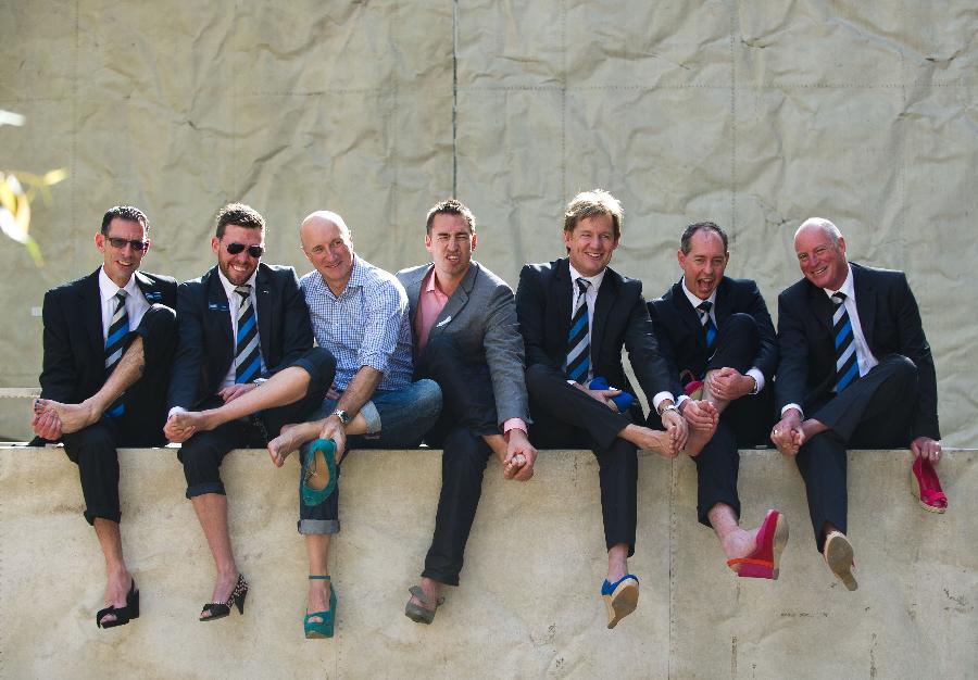
[[[525,481],[537,450],[527,437],[529,406],[523,339],[513,290],[472,260],[475,217],[449,199],[428,211],[425,248],[432,263],[403,269],[414,338],[415,379],[436,380],[441,418],[426,441],[440,446],[441,496],[421,585],[411,588],[404,614],[430,624],[441,585],[457,585],[465,542],[475,519],[490,453],[503,477]]]

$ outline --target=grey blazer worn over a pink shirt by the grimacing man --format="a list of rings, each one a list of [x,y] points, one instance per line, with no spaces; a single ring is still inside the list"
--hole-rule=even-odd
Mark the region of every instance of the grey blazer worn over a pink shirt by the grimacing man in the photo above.
[[[408,291],[411,305],[412,335],[415,335],[414,318],[422,281],[434,266],[429,263],[398,272],[398,280]],[[428,340],[441,333],[450,335],[466,358],[484,361],[489,366],[499,424],[510,418],[523,418],[530,423],[523,368],[523,338],[516,322],[513,289],[473,260],[465,278],[435,320]],[[414,340],[417,341],[416,335]]]

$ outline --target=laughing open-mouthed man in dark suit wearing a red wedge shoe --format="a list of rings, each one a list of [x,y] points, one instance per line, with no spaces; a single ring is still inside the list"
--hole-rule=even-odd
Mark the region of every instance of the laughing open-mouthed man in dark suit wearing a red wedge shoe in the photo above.
[[[744,531],[737,495],[738,445],[758,443],[751,433],[766,437],[774,420],[774,325],[754,281],[724,276],[730,253],[727,235],[717,225],[687,227],[677,257],[682,278],[649,303],[649,313],[673,375],[690,387],[701,382],[702,398],[720,414],[713,432],[692,427],[686,448],[697,464],[699,519],[716,532],[739,576],[776,579],[787,521],[770,511],[757,530]],[[654,415],[649,420],[650,427],[659,424]]]

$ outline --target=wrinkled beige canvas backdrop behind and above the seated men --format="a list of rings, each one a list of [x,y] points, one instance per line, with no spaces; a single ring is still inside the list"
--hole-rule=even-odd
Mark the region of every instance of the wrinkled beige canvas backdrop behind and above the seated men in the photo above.
[[[625,205],[613,265],[648,297],[682,227],[728,229],[728,274],[776,314],[791,236],[833,219],[853,260],[905,269],[933,347],[945,441],[973,445],[978,12],[962,2],[0,0],[0,167],[67,167],[32,234],[0,239],[0,385],[35,386],[45,290],[93,270],[104,210],[142,207],[148,270],[212,266],[212,216],[268,219],[266,260],[310,269],[297,225],[331,209],[388,269],[426,257],[455,193],[476,256],[515,285],[562,254],[561,214]],[[28,435],[3,400],[0,437]]]

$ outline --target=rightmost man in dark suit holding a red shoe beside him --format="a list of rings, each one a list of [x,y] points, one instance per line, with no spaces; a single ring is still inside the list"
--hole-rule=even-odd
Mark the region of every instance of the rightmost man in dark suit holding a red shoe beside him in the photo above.
[[[794,235],[804,278],[778,297],[781,419],[772,441],[797,456],[818,550],[849,590],[847,449],[941,455],[937,379],[917,301],[902,272],[845,259],[845,239],[812,217]]]

